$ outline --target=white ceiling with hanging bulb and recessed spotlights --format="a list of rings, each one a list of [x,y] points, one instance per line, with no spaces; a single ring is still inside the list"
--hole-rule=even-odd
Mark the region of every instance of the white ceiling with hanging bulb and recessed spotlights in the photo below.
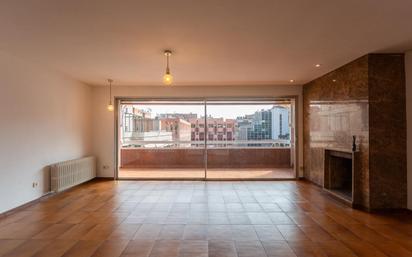
[[[411,0],[2,0],[0,50],[88,84],[308,82],[412,48]],[[320,68],[315,68],[321,63]]]

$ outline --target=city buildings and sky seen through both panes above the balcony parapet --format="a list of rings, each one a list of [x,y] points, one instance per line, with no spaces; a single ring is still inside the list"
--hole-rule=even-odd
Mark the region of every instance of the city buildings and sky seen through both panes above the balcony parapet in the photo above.
[[[191,148],[207,137],[208,148],[289,147],[289,113],[287,101],[131,102],[121,105],[121,143]]]

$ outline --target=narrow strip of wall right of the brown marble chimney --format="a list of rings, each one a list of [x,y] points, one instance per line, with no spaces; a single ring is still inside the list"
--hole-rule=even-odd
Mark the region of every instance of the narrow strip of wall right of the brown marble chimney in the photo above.
[[[412,51],[405,55],[406,70],[406,124],[407,124],[407,167],[408,208],[412,210]]]

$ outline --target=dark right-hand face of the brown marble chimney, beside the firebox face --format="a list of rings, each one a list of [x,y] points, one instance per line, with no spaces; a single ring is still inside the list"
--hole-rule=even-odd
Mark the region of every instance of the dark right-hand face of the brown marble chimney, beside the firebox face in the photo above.
[[[404,56],[369,56],[369,168],[371,208],[406,207]]]

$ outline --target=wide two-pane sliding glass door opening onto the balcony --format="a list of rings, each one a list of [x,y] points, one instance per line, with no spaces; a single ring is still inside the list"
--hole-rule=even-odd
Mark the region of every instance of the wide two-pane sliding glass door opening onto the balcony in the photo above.
[[[293,100],[123,100],[118,177],[294,178]]]

